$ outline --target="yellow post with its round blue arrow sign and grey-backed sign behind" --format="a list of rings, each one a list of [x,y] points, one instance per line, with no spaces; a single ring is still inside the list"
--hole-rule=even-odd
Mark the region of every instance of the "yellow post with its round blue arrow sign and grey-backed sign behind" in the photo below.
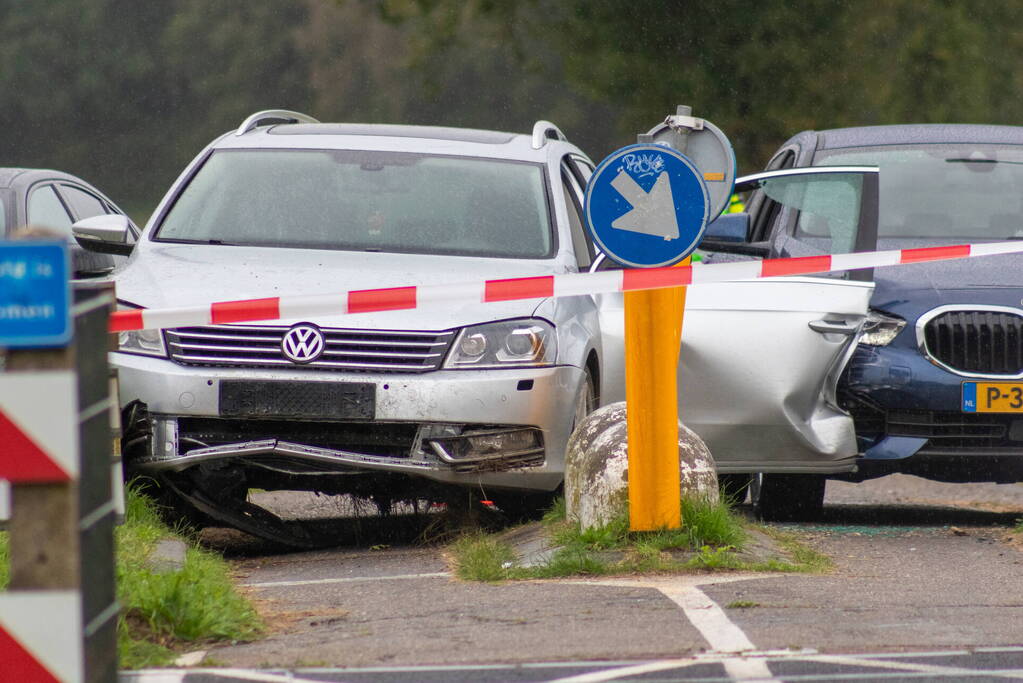
[[[586,185],[593,241],[626,268],[688,264],[708,221],[731,194],[731,145],[692,113],[679,106],[636,144],[601,162]],[[677,377],[685,289],[627,291],[624,304],[629,529],[678,529]]]

